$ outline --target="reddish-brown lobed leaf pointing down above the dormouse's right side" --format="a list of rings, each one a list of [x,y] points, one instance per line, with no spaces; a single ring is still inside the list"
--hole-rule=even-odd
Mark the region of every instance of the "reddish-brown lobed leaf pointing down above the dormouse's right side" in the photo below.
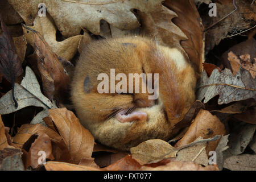
[[[187,52],[195,71],[201,73],[204,63],[204,27],[195,3],[192,0],[168,0],[164,1],[163,5],[177,14],[172,22],[188,38],[181,40],[180,44]]]

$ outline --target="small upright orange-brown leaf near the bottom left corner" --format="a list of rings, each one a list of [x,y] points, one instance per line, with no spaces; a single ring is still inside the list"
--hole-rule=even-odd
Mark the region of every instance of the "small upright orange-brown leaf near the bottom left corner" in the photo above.
[[[39,132],[38,138],[31,144],[30,150],[28,151],[28,162],[27,165],[32,168],[38,167],[40,164],[38,159],[40,158],[39,151],[43,151],[46,154],[46,159],[53,159],[51,139],[45,133]]]

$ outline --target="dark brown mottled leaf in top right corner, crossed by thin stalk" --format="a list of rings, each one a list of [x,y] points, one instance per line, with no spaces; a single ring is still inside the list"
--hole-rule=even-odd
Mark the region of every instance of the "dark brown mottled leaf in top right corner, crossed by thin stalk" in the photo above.
[[[232,32],[232,35],[235,35],[240,33],[240,30],[250,28],[250,22],[253,23],[253,16],[244,16],[246,14],[248,15],[249,12],[255,12],[256,6],[251,6],[250,4],[250,1],[236,0],[238,9],[205,32],[206,54],[213,49],[214,46],[218,45],[222,39],[226,38],[229,32]],[[221,18],[224,18],[224,16],[235,9],[232,1],[229,1],[229,3],[225,3],[224,5],[216,3],[216,6],[216,17],[210,17],[208,13],[202,17],[205,28],[212,26],[212,24],[218,22]]]

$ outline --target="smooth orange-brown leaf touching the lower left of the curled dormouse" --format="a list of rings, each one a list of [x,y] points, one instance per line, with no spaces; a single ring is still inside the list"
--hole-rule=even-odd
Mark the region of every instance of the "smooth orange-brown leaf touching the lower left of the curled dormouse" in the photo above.
[[[63,138],[72,163],[78,164],[81,159],[92,156],[94,138],[79,122],[79,119],[65,108],[49,110],[49,118],[55,123],[60,136]]]

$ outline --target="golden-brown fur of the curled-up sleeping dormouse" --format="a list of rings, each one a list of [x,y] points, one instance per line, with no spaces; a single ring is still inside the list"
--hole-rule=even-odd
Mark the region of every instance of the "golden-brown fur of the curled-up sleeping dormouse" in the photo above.
[[[159,73],[158,101],[143,94],[100,94],[97,76],[117,73]],[[84,88],[85,78],[86,90]],[[116,81],[115,83],[117,83]],[[159,46],[142,37],[107,39],[90,43],[82,51],[72,81],[72,102],[80,122],[106,146],[129,150],[147,139],[169,139],[174,125],[195,101],[195,72],[175,48]],[[115,113],[143,111],[145,121],[121,123]]]

